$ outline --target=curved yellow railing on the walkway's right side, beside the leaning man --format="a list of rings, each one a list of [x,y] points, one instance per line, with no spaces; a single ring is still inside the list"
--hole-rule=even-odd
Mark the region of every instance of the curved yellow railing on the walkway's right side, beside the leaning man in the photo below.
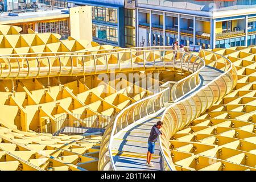
[[[180,129],[180,127],[184,126],[184,125],[177,125],[175,123],[180,123],[180,122],[184,123],[185,121],[185,124],[188,125],[189,122],[191,122],[193,119],[198,117],[201,113],[203,113],[206,109],[212,106],[214,102],[220,101],[221,98],[225,94],[229,93],[234,87],[234,83],[236,83],[237,76],[236,76],[236,69],[233,67],[232,63],[225,57],[220,57],[220,55],[217,55],[217,54],[214,55],[214,53],[208,53],[208,51],[205,52],[205,55],[210,55],[210,54],[212,54],[212,56],[215,56],[216,58],[214,67],[221,68],[224,71],[224,73],[222,73],[220,76],[218,76],[214,80],[210,81],[208,85],[205,85],[199,90],[197,90],[190,97],[184,98],[184,100],[181,100],[178,102],[177,105],[183,105],[186,108],[187,113],[185,115],[186,116],[185,120],[184,120],[184,117],[183,118],[179,117],[179,111],[177,110],[177,106],[175,104],[169,106],[167,110],[164,111],[162,121],[167,125],[163,125],[163,128],[166,128],[166,126],[170,126],[170,123],[173,128],[173,129],[166,128],[164,131],[167,131],[167,133],[174,134],[177,130]],[[192,62],[196,63],[196,61],[192,61]],[[199,63],[195,70],[197,70],[200,67],[202,66]],[[177,83],[176,85],[179,85],[179,83]],[[184,82],[184,85],[185,85],[185,82]],[[174,93],[176,93],[176,90],[179,89],[179,86],[173,86],[172,88],[174,89],[173,90]],[[179,107],[178,109],[180,110],[180,112],[182,112],[183,107]],[[171,114],[171,117],[170,117],[170,114]],[[168,119],[168,118],[172,118],[172,119]],[[164,137],[160,140],[160,143],[161,143],[160,150],[165,160],[164,163],[167,164],[169,169],[172,169],[173,163],[172,163],[171,156],[168,152],[166,152],[166,150],[168,150],[169,148],[168,141],[166,141],[166,138]]]

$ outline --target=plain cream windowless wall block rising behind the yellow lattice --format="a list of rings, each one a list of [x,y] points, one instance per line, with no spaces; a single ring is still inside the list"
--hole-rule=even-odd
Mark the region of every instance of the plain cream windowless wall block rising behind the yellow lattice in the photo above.
[[[92,7],[80,6],[69,9],[69,26],[72,38],[92,41]]]

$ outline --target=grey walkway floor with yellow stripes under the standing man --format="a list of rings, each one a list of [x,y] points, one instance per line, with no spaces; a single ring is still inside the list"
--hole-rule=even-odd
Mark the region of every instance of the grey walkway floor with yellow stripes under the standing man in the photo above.
[[[200,87],[209,84],[210,81],[221,74],[222,71],[208,66],[204,67],[200,72],[201,79],[203,79]],[[145,117],[144,121],[134,123],[135,125],[131,129],[120,131],[121,133],[114,138],[112,154],[117,170],[146,171],[163,169],[158,142],[155,144],[155,154],[151,161],[155,167],[146,166],[147,140],[151,127],[159,121],[162,114],[163,112],[156,117]]]

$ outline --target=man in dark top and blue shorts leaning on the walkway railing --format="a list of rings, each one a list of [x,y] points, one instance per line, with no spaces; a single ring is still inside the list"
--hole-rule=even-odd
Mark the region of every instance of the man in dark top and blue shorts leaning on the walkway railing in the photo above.
[[[150,131],[150,137],[148,137],[148,150],[147,150],[147,162],[146,166],[155,167],[152,163],[152,155],[155,152],[155,142],[158,140],[158,135],[162,135],[160,128],[162,127],[163,122],[158,121],[156,125],[154,125]]]

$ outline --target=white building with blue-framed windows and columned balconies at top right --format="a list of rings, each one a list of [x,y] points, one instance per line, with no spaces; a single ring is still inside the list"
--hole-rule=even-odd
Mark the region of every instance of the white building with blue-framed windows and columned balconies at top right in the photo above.
[[[137,0],[137,46],[251,46],[256,1]]]

